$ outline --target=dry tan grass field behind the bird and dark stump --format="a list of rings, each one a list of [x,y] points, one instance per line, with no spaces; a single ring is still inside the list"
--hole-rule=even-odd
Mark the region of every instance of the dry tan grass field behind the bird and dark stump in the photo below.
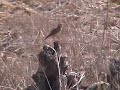
[[[120,58],[120,9],[106,0],[0,0],[0,90],[23,90],[33,83],[36,55],[59,40],[70,68],[84,69],[89,85]],[[113,0],[114,1],[114,0]],[[119,1],[119,0],[118,0]],[[118,8],[118,9],[116,9]],[[44,41],[63,23],[61,33]]]

